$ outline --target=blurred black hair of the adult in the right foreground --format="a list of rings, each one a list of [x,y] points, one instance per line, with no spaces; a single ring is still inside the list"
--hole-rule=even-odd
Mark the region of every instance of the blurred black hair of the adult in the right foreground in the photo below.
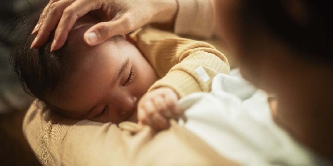
[[[306,20],[301,22],[292,18],[286,6],[288,2],[288,0],[242,1],[244,26],[263,23],[272,34],[300,52],[301,58],[331,65],[333,63],[332,1],[299,0],[308,12]]]

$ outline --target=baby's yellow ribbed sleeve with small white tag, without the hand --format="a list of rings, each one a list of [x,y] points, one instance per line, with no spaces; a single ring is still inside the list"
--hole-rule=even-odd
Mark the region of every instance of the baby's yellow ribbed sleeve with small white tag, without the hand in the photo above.
[[[149,90],[170,87],[181,98],[193,92],[209,92],[216,74],[229,74],[225,56],[206,42],[150,27],[139,32],[137,40],[139,49],[162,78]]]

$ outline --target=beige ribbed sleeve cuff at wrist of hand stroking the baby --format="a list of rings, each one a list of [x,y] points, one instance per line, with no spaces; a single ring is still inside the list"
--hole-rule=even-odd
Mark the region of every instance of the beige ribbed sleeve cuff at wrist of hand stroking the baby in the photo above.
[[[213,0],[177,0],[178,13],[174,33],[182,36],[211,38],[214,33]]]

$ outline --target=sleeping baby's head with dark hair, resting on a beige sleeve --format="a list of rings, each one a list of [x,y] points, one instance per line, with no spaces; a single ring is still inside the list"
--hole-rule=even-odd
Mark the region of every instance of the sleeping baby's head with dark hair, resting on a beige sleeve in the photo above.
[[[122,36],[86,45],[83,34],[97,22],[90,15],[80,18],[65,45],[54,52],[49,51],[53,35],[38,49],[29,49],[35,36],[27,35],[13,50],[12,64],[26,92],[66,117],[136,122],[137,103],[157,75]]]

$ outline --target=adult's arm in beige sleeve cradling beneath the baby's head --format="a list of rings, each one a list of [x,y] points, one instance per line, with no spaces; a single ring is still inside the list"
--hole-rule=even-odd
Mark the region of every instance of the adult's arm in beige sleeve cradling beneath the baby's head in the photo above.
[[[23,131],[43,165],[235,165],[174,121],[159,133],[119,126],[66,119],[33,103]]]

